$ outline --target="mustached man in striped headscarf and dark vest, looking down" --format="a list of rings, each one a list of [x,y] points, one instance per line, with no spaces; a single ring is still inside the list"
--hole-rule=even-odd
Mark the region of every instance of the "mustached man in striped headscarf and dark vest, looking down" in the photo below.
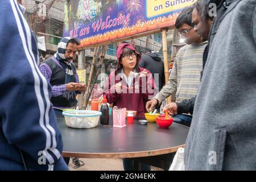
[[[63,38],[57,47],[54,56],[49,57],[40,65],[40,71],[52,86],[53,109],[55,115],[60,117],[62,109],[75,108],[76,94],[85,92],[85,84],[79,83],[75,64],[72,60],[76,58],[79,41],[75,38]],[[68,164],[69,158],[64,158]],[[73,158],[73,168],[84,165],[78,158]]]

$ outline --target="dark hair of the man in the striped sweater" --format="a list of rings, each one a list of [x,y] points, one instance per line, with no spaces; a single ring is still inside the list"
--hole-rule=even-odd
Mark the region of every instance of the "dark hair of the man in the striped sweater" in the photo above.
[[[193,13],[193,7],[187,7],[181,13],[179,16],[177,16],[175,27],[178,29],[180,28],[184,23],[187,23],[189,26],[193,26],[192,23],[192,13]]]

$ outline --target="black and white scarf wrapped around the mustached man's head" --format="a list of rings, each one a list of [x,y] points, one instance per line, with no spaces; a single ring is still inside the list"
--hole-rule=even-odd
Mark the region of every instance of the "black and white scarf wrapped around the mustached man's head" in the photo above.
[[[54,55],[55,58],[59,61],[61,67],[65,69],[65,84],[76,82],[75,70],[72,69],[72,61],[67,61],[65,58],[67,43],[70,39],[70,37],[61,39],[57,46],[57,52]],[[66,91],[63,97],[67,98],[67,100],[73,100],[76,97],[76,93]]]

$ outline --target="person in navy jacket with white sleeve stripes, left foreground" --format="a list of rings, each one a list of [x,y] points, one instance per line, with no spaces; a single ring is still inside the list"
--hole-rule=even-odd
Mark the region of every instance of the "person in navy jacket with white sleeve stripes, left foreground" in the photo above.
[[[16,0],[0,7],[0,170],[68,170],[35,38]]]

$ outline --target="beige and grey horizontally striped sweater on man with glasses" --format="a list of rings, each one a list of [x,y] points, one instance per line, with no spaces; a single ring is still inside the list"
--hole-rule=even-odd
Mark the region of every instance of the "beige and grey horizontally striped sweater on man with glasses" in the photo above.
[[[203,69],[203,53],[207,42],[186,45],[177,52],[169,81],[154,97],[163,102],[176,91],[176,102],[195,97]]]

